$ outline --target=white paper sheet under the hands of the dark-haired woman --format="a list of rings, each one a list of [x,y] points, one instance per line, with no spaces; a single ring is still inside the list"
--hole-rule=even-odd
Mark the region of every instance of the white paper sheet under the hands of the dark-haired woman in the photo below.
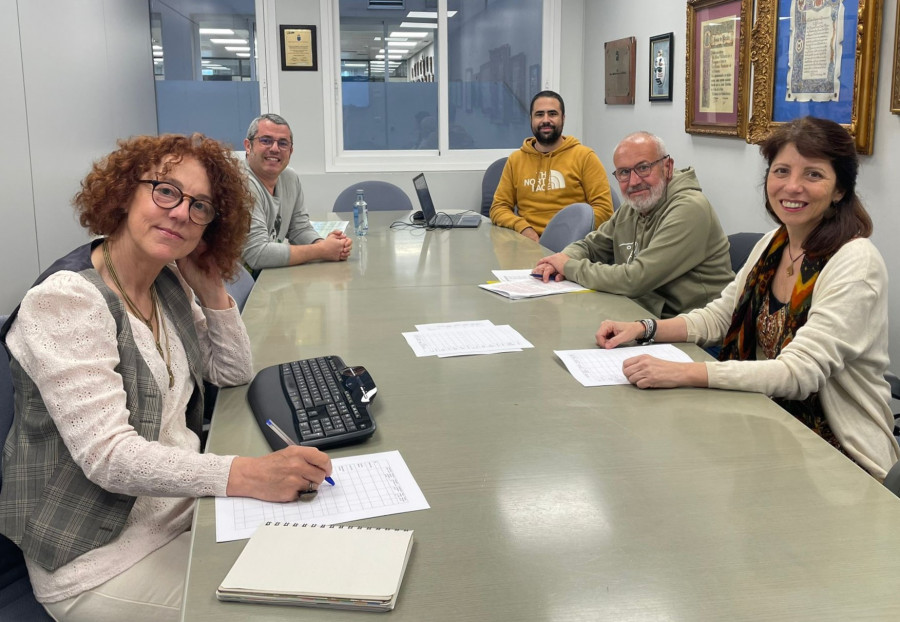
[[[665,361],[690,363],[693,359],[668,343],[631,348],[604,350],[554,350],[575,379],[586,387],[603,387],[613,384],[628,384],[622,373],[622,363],[640,354],[649,354]]]

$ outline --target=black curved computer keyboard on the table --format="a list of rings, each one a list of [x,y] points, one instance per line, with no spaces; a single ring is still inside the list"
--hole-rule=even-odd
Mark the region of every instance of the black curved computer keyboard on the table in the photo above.
[[[365,368],[331,355],[266,367],[250,383],[247,400],[272,449],[286,443],[268,420],[298,445],[326,448],[374,434],[369,408],[376,391]]]

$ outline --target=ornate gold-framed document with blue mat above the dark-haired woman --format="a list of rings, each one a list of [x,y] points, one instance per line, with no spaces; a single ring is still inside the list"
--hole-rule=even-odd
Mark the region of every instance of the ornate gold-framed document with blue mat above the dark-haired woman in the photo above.
[[[812,115],[871,154],[882,10],[882,0],[756,0],[748,142]]]

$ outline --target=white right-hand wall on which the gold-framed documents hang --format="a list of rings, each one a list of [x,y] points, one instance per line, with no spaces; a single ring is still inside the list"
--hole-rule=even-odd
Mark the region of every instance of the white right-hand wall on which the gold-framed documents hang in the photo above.
[[[893,68],[894,25],[897,0],[884,1],[881,60],[878,68],[875,148],[873,155],[861,157],[857,192],[872,216],[872,240],[887,263],[888,272],[900,271],[900,116],[890,112]],[[640,19],[635,19],[640,16]],[[674,65],[674,96],[671,103],[650,103],[648,98],[649,38],[675,33],[674,59],[684,59],[686,11],[684,2],[630,0],[629,2],[585,3],[584,100],[594,102],[585,112],[584,140],[598,150],[601,160],[612,167],[612,151],[626,133],[649,130],[661,136],[675,158],[676,166],[694,166],[704,192],[715,206],[727,233],[768,231],[774,228],[763,207],[762,178],[765,167],[759,149],[737,138],[701,137],[684,131],[684,63]],[[852,33],[851,33],[852,34]],[[607,106],[603,103],[603,43],[623,37],[637,37],[637,97],[634,106]],[[892,367],[900,364],[900,280],[892,283],[890,310]],[[848,329],[853,321],[848,318]]]

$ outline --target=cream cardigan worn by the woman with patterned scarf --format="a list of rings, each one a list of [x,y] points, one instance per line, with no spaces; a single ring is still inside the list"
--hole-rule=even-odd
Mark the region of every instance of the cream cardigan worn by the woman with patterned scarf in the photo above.
[[[747,263],[702,309],[681,315],[688,341],[721,343],[750,270],[775,234],[756,244]],[[888,357],[887,268],[866,238],[847,242],[822,269],[804,324],[776,358],[706,364],[714,389],[756,391],[791,400],[818,392],[825,418],[844,450],[883,480],[900,459],[893,435]]]

